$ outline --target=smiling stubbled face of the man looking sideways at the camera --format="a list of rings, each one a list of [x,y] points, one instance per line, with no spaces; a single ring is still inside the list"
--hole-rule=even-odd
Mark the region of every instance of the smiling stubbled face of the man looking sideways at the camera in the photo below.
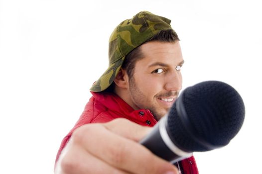
[[[134,109],[150,109],[160,119],[182,88],[180,44],[152,41],[140,49],[143,58],[135,63],[133,77],[129,77],[129,104]]]

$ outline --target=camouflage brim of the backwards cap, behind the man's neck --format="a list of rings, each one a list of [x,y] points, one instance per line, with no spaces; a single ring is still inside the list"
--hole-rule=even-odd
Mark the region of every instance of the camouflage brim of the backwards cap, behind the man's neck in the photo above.
[[[125,57],[112,63],[105,73],[93,84],[90,88],[91,91],[100,92],[108,88],[115,80],[119,70],[124,62]]]

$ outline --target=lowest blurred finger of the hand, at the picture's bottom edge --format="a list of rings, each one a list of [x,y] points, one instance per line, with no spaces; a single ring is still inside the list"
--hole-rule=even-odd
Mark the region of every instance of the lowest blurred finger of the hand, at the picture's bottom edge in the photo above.
[[[79,145],[69,142],[68,147],[61,154],[62,160],[58,161],[61,168],[56,174],[105,174],[105,171],[108,174],[130,174],[92,156]]]

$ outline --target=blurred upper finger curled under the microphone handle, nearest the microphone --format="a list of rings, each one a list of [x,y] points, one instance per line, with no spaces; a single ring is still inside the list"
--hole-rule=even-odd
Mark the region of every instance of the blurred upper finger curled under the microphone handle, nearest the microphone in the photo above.
[[[114,130],[121,132],[126,129],[125,126],[119,127]],[[129,129],[130,133],[131,131]],[[102,124],[82,126],[73,136],[90,154],[113,167],[134,174],[165,174],[168,171],[177,173],[173,165],[153,155],[144,146],[116,135]]]

